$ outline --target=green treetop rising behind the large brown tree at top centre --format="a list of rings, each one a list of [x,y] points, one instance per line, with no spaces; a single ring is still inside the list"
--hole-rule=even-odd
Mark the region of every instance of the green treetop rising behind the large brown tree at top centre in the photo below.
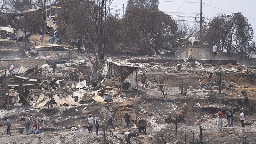
[[[128,0],[126,10],[133,8],[158,9],[159,0]]]

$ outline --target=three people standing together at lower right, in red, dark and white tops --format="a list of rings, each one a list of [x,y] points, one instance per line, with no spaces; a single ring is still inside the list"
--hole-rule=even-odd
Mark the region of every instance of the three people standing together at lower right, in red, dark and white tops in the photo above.
[[[230,126],[230,123],[231,123],[231,126],[233,127],[234,126],[234,123],[233,123],[233,114],[234,114],[234,111],[229,108],[228,111],[226,112],[226,116],[228,118],[228,126]],[[222,127],[222,118],[223,118],[223,115],[222,115],[222,112],[221,112],[221,109],[219,110],[219,112],[217,113],[217,116],[219,118],[219,127]],[[241,120],[241,124],[242,124],[242,127],[244,127],[244,120],[245,120],[245,116],[244,116],[244,112],[242,110],[240,110],[240,115],[239,115],[239,118]]]

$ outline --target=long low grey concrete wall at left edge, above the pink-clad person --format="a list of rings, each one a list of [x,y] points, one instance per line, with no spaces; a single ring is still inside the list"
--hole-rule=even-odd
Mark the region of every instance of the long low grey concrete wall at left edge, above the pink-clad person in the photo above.
[[[0,68],[5,69],[11,66],[12,64],[15,64],[15,68],[20,68],[21,66],[25,68],[34,68],[35,65],[38,65],[38,67],[41,67],[45,63],[46,62],[44,59],[1,60]]]

